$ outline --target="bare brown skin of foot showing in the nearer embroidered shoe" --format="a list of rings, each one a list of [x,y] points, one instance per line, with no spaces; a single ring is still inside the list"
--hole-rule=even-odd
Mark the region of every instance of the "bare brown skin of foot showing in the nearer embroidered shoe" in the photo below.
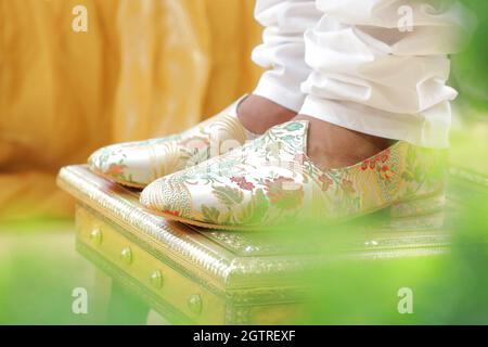
[[[307,153],[323,170],[355,165],[394,143],[388,139],[360,133],[305,115],[298,115],[294,120],[309,121]]]

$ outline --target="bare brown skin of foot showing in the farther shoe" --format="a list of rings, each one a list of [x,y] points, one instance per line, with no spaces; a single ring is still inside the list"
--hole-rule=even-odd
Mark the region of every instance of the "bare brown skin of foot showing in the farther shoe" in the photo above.
[[[295,116],[296,112],[258,95],[246,98],[237,110],[241,124],[256,134],[262,134],[279,124],[292,120]]]

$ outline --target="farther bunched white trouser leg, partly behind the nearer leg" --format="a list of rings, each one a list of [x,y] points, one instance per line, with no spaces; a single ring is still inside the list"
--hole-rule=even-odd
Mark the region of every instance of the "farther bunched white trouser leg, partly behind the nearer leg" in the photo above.
[[[255,16],[265,26],[253,61],[269,68],[254,91],[298,112],[305,101],[300,85],[312,69],[305,63],[305,37],[323,15],[310,0],[257,0]]]

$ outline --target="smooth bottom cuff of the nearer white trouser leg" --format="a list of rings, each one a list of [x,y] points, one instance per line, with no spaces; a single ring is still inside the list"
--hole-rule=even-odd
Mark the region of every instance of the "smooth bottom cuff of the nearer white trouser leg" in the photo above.
[[[358,103],[307,97],[299,112],[371,136],[429,147],[449,147],[451,108],[448,101],[421,114],[394,114]]]

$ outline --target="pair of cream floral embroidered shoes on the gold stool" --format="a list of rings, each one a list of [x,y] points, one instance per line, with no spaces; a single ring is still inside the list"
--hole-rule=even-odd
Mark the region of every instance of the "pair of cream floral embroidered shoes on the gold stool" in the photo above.
[[[438,227],[442,151],[400,141],[357,165],[321,170],[307,156],[308,121],[255,137],[240,124],[237,105],[179,136],[102,149],[90,157],[90,168],[144,188],[146,208],[204,228],[333,223],[384,209],[399,228],[419,220]]]

